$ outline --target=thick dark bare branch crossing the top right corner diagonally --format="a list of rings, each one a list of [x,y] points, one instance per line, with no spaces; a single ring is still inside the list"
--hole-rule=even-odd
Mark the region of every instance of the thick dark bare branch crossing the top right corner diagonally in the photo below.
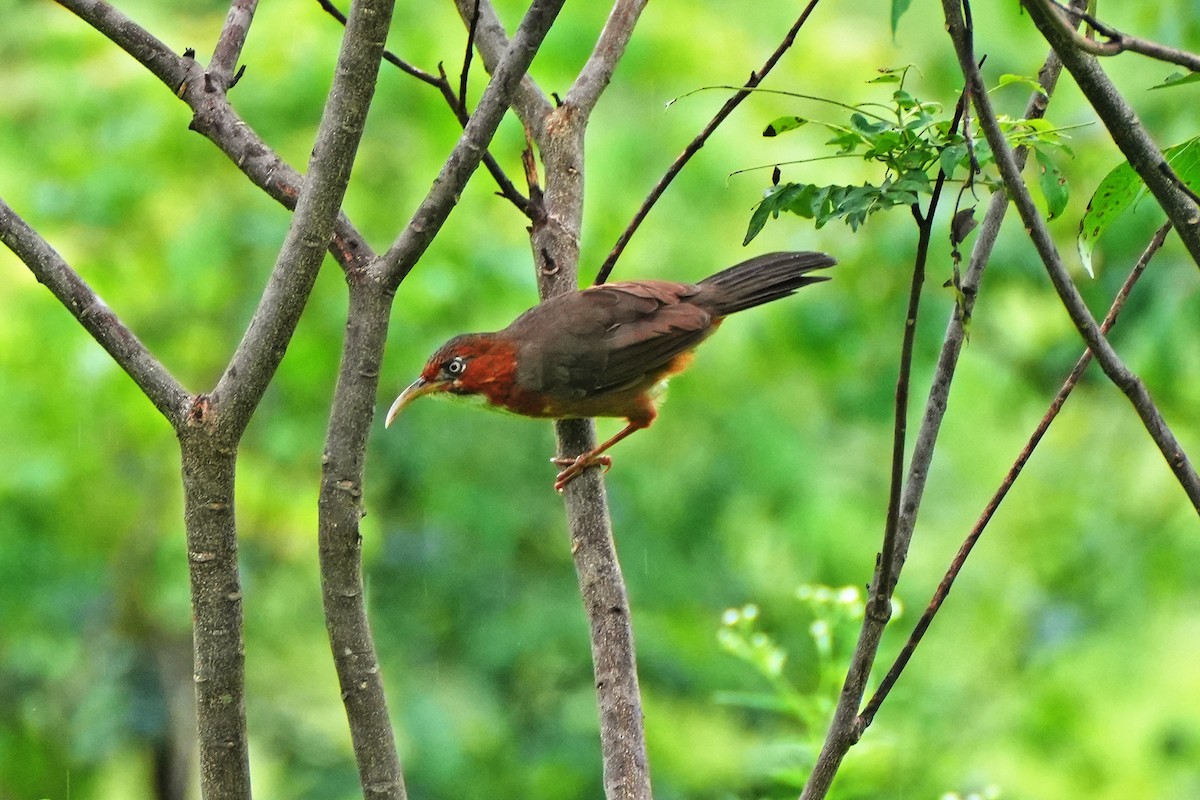
[[[1021,0],[1033,24],[1058,53],[1063,66],[1096,109],[1129,166],[1163,206],[1192,260],[1200,266],[1200,209],[1196,201],[1183,188],[1182,181],[1146,133],[1134,109],[1116,90],[1097,60],[1073,44],[1070,29],[1064,24],[1062,14],[1048,4],[1049,0]],[[1100,363],[1104,363],[1103,359]]]

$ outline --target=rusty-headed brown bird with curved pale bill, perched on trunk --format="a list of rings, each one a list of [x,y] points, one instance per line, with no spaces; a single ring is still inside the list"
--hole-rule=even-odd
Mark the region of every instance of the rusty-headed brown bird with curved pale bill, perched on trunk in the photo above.
[[[418,397],[482,398],[499,410],[542,419],[624,417],[614,437],[562,467],[554,489],[589,467],[607,470],[610,447],[647,428],[666,381],[726,317],[829,279],[811,275],[826,253],[757,255],[697,283],[625,281],[569,291],[534,306],[502,331],[462,333],[439,347],[388,410],[384,427]]]

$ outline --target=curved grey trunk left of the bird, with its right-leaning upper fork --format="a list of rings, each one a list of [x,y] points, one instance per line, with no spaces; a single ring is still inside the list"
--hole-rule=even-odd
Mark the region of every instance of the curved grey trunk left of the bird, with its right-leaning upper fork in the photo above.
[[[499,126],[514,88],[529,67],[562,7],[535,4],[488,84],[479,110],[421,206],[388,257],[348,273],[349,308],[342,360],[322,457],[318,542],[322,599],[334,666],[354,745],[364,796],[403,800],[400,756],[383,676],[366,613],[362,584],[362,486],[366,443],[374,422],[389,314],[396,284],[449,217]],[[383,41],[383,37],[379,37]]]

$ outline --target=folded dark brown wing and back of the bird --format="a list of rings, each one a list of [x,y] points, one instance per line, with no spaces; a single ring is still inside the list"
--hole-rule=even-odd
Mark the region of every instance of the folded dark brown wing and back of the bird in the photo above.
[[[656,378],[712,332],[712,315],[688,302],[690,283],[636,281],[593,287],[530,308],[509,326],[523,342],[522,385],[582,399]]]

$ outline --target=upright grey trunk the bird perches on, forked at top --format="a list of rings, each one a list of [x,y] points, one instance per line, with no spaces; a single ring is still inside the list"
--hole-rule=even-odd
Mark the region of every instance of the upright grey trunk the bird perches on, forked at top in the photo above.
[[[474,0],[456,0],[460,14],[473,10]],[[578,279],[580,229],[583,218],[583,138],[588,114],[624,52],[636,11],[620,1],[610,14],[604,40],[568,98],[551,108],[532,82],[522,84],[514,108],[528,134],[536,143],[546,168],[545,192],[530,180],[532,200],[540,199],[544,212],[533,213],[530,243],[538,265],[538,287],[542,299],[574,291]],[[469,6],[469,8],[468,8]],[[485,65],[494,61],[494,49],[504,42],[504,31],[486,0],[480,2],[476,36]],[[583,83],[578,83],[582,80]],[[584,106],[576,106],[582,97]],[[530,179],[535,178],[529,169]],[[562,420],[554,423],[559,456],[575,456],[595,445],[590,420]],[[646,757],[637,662],[634,648],[629,597],[612,537],[612,523],[604,480],[588,470],[564,493],[580,595],[588,616],[592,661],[600,709],[600,747],[604,759],[605,795],[610,800],[649,800],[650,778]]]

